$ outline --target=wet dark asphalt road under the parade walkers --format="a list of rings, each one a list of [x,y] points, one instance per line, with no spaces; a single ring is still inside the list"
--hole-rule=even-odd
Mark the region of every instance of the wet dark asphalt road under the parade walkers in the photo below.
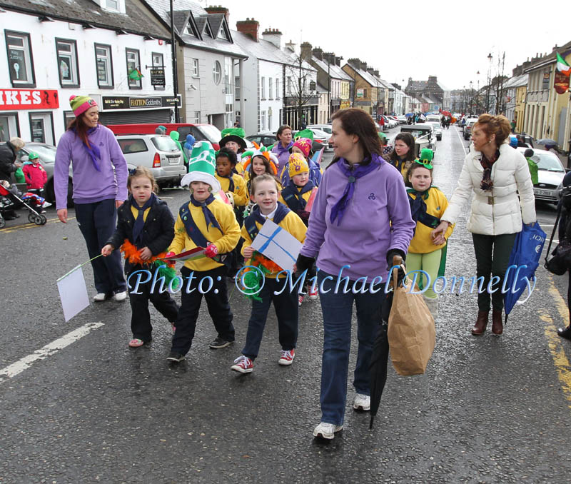
[[[447,196],[464,145],[455,127],[438,142],[435,184]],[[160,196],[176,211],[188,192]],[[550,229],[555,209],[537,213]],[[134,350],[128,302],[92,304],[64,323],[56,279],[88,257],[73,211],[67,225],[52,208],[47,215],[46,226],[22,216],[0,231],[0,483],[570,482],[571,343],[555,336],[568,323],[565,278],[540,268],[500,338],[470,335],[475,294],[443,293],[427,373],[403,378],[389,365],[373,430],[350,408],[349,386],[345,428],[321,443],[311,435],[320,419],[318,301],[300,308],[290,367],[277,364],[271,313],[254,372],[231,372],[249,316],[237,290],[236,344],[208,348],[215,332],[203,307],[186,362],[169,365],[171,328],[154,309],[153,342]],[[449,275],[475,274],[467,215],[468,206],[450,239]],[[89,264],[84,274],[93,294]]]

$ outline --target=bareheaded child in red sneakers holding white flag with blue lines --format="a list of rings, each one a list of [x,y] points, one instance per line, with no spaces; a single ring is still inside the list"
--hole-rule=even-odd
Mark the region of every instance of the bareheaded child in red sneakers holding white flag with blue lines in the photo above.
[[[276,275],[278,274],[276,265],[261,254],[254,254],[251,247],[252,241],[268,219],[297,238],[301,243],[305,241],[305,232],[307,231],[300,218],[284,206],[283,203],[278,202],[278,186],[273,176],[268,174],[256,176],[252,182],[252,193],[257,206],[244,221],[242,228],[242,237],[244,239],[242,253],[244,258],[249,259],[248,266],[262,264],[269,272],[266,273],[263,286],[259,293],[256,294],[256,298],[252,299],[252,313],[248,322],[246,345],[242,350],[242,355],[236,358],[231,366],[232,370],[240,373],[251,373],[253,371],[253,361],[258,356],[263,328],[266,326],[266,318],[272,302],[278,318],[278,332],[281,345],[281,356],[278,363],[280,365],[291,365],[293,363],[295,345],[298,341],[297,293],[290,291],[289,286],[283,288],[283,274],[280,277],[280,281],[276,281]]]

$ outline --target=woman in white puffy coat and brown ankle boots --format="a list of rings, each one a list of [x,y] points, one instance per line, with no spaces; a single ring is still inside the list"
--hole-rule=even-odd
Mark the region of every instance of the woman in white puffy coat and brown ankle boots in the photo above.
[[[510,121],[505,116],[482,114],[473,127],[474,148],[465,158],[458,186],[450,205],[440,218],[433,236],[444,233],[449,224],[456,223],[460,210],[474,193],[468,220],[476,254],[477,277],[483,277],[483,292],[477,296],[477,320],[472,334],[485,332],[492,303],[492,333],[503,332],[501,292],[507,264],[510,261],[515,235],[522,222],[535,222],[535,198],[530,170],[525,157],[508,143]],[[518,194],[519,193],[519,194]],[[487,291],[490,275],[498,277]],[[478,283],[478,288],[480,284]]]

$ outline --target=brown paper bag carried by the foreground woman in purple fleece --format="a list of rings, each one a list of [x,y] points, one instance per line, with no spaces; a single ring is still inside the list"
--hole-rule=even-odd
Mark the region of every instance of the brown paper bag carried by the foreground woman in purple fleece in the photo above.
[[[394,269],[393,288],[396,287]],[[409,293],[413,283],[395,288],[393,306],[388,318],[388,345],[390,359],[399,375],[422,375],[433,354],[435,345],[434,318],[422,294]],[[418,286],[415,286],[418,291]]]

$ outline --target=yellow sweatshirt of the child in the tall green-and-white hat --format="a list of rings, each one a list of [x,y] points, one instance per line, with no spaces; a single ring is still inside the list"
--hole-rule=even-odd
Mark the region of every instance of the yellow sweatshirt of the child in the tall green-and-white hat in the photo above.
[[[215,198],[214,201],[208,205],[214,218],[216,218],[216,221],[220,224],[223,233],[213,226],[209,226],[208,231],[206,230],[206,221],[204,220],[202,207],[193,206],[189,201],[188,208],[191,211],[192,218],[198,230],[206,237],[206,240],[214,243],[218,249],[218,253],[230,252],[238,245],[238,241],[240,240],[240,226],[236,221],[232,207],[228,205],[228,203],[224,203]],[[178,254],[184,251],[190,251],[191,248],[196,248],[196,243],[194,243],[186,233],[186,228],[181,220],[181,214],[178,213],[174,224],[174,238],[168,251]],[[191,269],[191,271],[210,271],[223,264],[207,257],[194,261],[185,261],[184,265]]]

